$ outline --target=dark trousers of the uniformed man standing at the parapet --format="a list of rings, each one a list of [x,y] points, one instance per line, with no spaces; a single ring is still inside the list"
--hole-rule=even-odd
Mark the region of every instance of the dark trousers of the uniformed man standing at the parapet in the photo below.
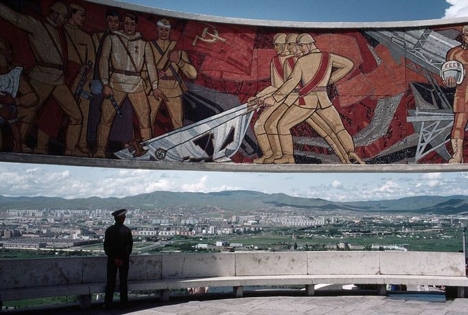
[[[124,264],[120,267],[115,266],[115,259],[108,257],[107,259],[107,283],[106,283],[106,296],[104,303],[110,305],[112,303],[115,291],[115,278],[117,277],[117,269],[119,269],[120,279],[120,303],[128,303],[128,258],[124,258]]]

